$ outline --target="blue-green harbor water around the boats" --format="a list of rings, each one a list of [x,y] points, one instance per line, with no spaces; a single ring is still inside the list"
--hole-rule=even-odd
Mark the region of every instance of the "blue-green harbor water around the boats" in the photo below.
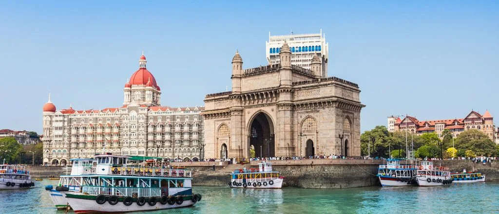
[[[44,189],[48,184],[57,181],[36,181],[30,190],[0,191],[0,214],[65,214],[50,201]],[[342,190],[194,187],[193,192],[203,195],[193,207],[133,214],[499,213],[499,183]]]

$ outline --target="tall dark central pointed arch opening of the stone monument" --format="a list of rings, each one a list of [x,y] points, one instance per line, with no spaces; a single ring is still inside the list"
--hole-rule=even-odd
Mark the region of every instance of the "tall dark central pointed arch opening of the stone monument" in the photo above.
[[[259,112],[250,123],[250,143],[256,157],[274,157],[274,130],[272,120],[268,115]],[[248,149],[249,151],[250,149]]]

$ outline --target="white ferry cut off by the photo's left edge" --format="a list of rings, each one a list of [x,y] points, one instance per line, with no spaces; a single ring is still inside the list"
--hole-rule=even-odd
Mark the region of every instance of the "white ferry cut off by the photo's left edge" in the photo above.
[[[29,171],[24,166],[0,165],[0,190],[28,189],[34,187]]]

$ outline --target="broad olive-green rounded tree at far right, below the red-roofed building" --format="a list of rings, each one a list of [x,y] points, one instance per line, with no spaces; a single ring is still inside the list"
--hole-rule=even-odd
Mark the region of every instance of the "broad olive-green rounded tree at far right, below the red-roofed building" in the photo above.
[[[463,131],[455,140],[457,141],[455,144],[458,150],[470,150],[480,156],[491,156],[496,153],[496,143],[477,129]]]

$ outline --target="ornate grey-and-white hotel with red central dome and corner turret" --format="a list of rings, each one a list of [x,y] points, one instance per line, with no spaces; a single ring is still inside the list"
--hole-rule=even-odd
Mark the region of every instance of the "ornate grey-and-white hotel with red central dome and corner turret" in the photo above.
[[[204,107],[160,106],[161,89],[142,55],[125,84],[122,107],[57,110],[43,106],[43,163],[69,164],[95,153],[199,159],[203,150]]]

